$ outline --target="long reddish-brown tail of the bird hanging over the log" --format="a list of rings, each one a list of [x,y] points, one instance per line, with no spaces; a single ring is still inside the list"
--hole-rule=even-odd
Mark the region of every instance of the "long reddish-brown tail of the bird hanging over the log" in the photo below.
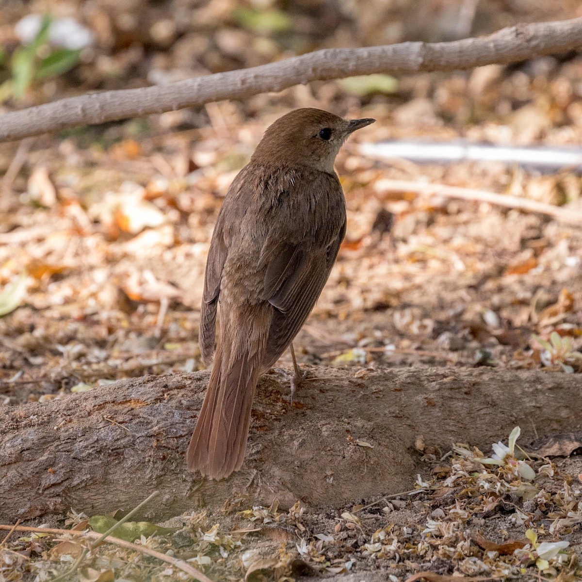
[[[230,334],[228,334],[230,335]],[[250,336],[255,336],[254,341]],[[210,382],[200,416],[186,453],[190,471],[200,471],[212,479],[228,477],[243,464],[251,419],[251,407],[266,334],[245,334],[239,328],[229,345],[221,333]]]

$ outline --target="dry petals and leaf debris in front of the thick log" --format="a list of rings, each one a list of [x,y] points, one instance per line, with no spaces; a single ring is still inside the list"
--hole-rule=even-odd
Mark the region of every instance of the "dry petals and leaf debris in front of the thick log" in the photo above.
[[[409,576],[575,580],[582,576],[580,478],[519,448],[517,438],[519,428],[508,445],[495,443],[490,457],[460,443],[441,460],[428,453],[430,476],[419,475],[402,494],[318,512],[300,502],[289,509],[277,501],[253,506],[240,495],[213,512],[184,514],[162,526],[127,522],[127,539],[183,560],[211,580],[287,581],[370,570],[393,582]],[[65,527],[101,531],[109,523],[115,519],[72,512]],[[87,544],[83,535],[42,528],[13,532],[0,546],[0,572],[5,580],[50,580]],[[175,566],[107,542],[79,567],[81,579],[188,579]]]

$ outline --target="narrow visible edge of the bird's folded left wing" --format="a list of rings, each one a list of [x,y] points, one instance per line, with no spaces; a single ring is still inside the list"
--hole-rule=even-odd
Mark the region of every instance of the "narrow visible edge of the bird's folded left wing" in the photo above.
[[[220,294],[222,269],[227,254],[228,245],[225,240],[221,212],[214,228],[210,250],[208,251],[206,272],[204,274],[204,293],[202,296],[202,307],[200,308],[200,332],[198,333],[198,343],[200,344],[202,359],[206,364],[210,364],[212,357],[214,356],[218,296]]]

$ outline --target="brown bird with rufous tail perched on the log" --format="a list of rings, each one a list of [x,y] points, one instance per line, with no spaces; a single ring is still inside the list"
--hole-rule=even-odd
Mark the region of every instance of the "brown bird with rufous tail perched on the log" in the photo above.
[[[207,364],[219,304],[221,314],[187,452],[191,471],[221,479],[242,466],[258,377],[307,319],[346,233],[333,162],[349,134],[373,122],[296,109],[268,127],[230,185],[206,263],[200,349]]]

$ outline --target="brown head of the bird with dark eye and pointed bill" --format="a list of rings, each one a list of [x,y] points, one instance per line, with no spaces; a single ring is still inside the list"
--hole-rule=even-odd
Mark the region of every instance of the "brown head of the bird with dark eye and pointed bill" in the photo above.
[[[252,161],[264,165],[302,165],[333,172],[333,162],[350,133],[375,119],[343,119],[321,109],[295,109],[265,132]]]

